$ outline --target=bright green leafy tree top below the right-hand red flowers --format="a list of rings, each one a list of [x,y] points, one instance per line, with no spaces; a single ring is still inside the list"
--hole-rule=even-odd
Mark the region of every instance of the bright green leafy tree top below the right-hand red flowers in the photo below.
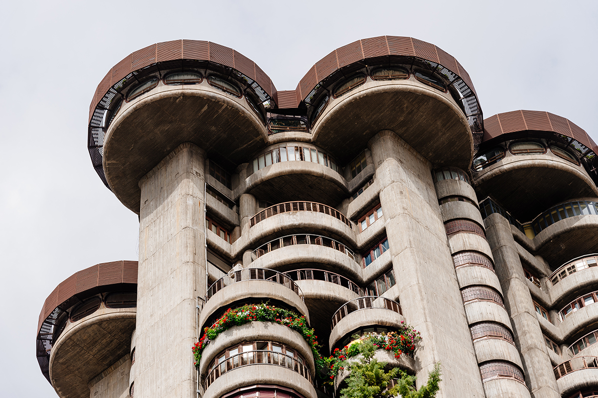
[[[374,358],[377,347],[368,340],[359,344],[363,357],[350,365],[350,375],[346,378],[347,387],[343,388],[341,398],[391,398],[401,394],[402,398],[433,398],[439,390],[440,364],[434,365],[428,383],[416,390],[414,376],[407,375],[398,368],[384,370],[386,363]],[[393,378],[399,378],[395,386],[387,388]]]

